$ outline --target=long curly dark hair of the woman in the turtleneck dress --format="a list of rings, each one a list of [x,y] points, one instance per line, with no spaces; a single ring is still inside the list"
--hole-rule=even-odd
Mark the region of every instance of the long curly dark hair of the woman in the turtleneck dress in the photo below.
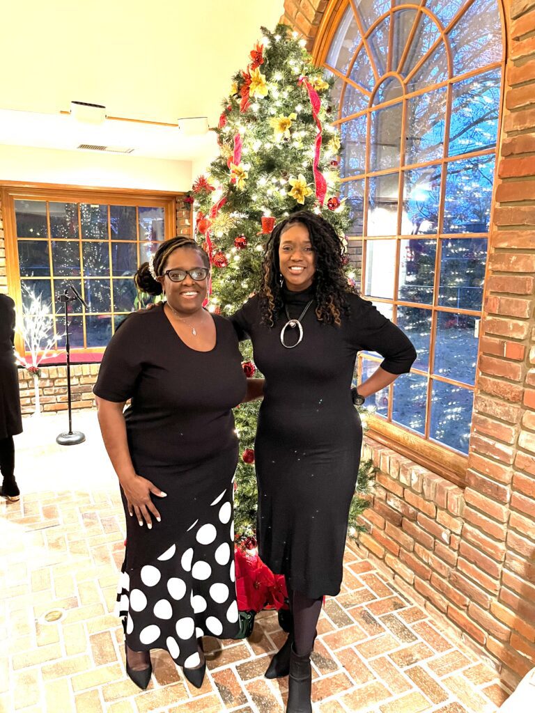
[[[344,274],[343,247],[336,230],[325,218],[309,210],[300,210],[282,220],[267,240],[260,283],[260,312],[263,323],[274,327],[277,314],[284,306],[279,245],[282,234],[294,223],[300,223],[307,228],[315,251],[316,272],[313,289],[316,317],[320,322],[340,327],[340,315],[350,312],[347,294],[355,290],[347,283]]]

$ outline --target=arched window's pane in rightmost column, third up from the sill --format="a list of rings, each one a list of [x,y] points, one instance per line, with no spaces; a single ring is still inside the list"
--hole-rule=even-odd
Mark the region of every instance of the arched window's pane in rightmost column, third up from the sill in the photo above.
[[[442,240],[439,304],[481,309],[486,264],[486,238]]]

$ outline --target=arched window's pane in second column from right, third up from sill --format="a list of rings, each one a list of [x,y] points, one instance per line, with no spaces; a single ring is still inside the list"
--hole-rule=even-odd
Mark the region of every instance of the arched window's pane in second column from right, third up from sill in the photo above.
[[[402,240],[398,299],[432,304],[436,255],[436,240]]]

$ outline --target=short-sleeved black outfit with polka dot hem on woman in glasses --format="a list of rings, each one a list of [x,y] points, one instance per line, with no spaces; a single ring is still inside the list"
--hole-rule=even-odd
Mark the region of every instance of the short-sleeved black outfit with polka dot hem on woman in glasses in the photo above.
[[[140,527],[128,515],[118,592],[128,646],[167,649],[178,665],[200,662],[197,637],[238,633],[234,571],[233,406],[245,396],[238,339],[214,315],[215,347],[190,349],[163,307],[131,314],[114,334],[93,389],[107,401],[132,398],[125,412],[138,475],[164,493],[153,497],[161,522]]]

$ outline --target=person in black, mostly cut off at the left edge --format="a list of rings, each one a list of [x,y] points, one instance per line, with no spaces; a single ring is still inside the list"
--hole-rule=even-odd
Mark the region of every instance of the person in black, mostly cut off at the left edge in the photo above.
[[[22,418],[14,337],[15,303],[7,294],[0,294],[0,471],[3,478],[0,493],[8,501],[17,501],[20,497],[15,480],[13,436],[22,433]]]

